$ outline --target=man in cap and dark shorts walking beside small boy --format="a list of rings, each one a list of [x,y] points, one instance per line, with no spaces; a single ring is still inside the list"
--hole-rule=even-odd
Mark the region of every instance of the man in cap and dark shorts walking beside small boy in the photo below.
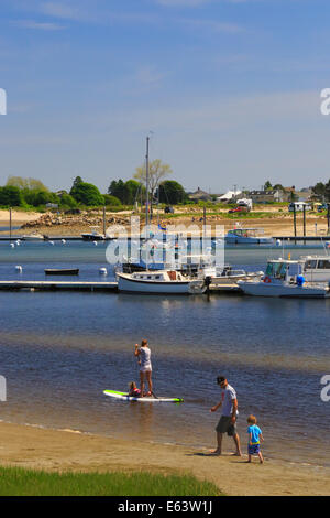
[[[212,451],[213,455],[221,455],[222,435],[227,433],[232,436],[237,446],[234,455],[241,456],[240,436],[237,431],[238,398],[235,390],[229,385],[224,376],[218,376],[217,384],[221,387],[221,401],[211,408],[211,412],[216,412],[222,407],[221,418],[217,424],[217,450]]]

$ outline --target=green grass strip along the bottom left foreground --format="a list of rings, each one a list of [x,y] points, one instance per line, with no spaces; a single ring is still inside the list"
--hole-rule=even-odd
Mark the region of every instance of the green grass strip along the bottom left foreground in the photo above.
[[[191,475],[148,472],[48,473],[0,468],[0,496],[220,496],[211,483]]]

